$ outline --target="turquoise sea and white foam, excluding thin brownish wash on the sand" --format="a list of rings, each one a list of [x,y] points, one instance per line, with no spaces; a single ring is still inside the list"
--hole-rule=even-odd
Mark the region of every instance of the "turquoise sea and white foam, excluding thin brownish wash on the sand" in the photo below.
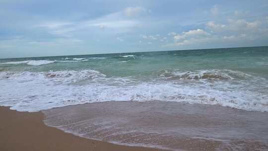
[[[0,105],[177,101],[268,111],[268,47],[0,60]]]

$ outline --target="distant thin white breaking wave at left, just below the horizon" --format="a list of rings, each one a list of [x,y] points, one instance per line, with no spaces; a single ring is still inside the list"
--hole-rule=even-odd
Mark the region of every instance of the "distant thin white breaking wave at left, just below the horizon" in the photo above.
[[[27,64],[27,65],[31,65],[31,66],[40,66],[40,65],[52,64],[55,62],[83,62],[83,61],[88,61],[88,59],[77,60],[77,61],[26,60],[26,61],[17,61],[17,62],[5,62],[5,63],[1,63],[1,64]]]

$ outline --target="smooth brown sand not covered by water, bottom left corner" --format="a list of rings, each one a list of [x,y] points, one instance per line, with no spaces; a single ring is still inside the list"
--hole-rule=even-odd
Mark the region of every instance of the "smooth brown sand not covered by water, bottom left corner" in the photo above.
[[[81,138],[43,122],[40,112],[18,112],[0,106],[1,151],[164,151]]]

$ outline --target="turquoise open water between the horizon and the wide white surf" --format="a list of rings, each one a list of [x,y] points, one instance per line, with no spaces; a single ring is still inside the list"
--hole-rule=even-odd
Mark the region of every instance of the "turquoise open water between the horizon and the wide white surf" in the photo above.
[[[42,66],[31,66],[27,65],[27,63],[19,64],[19,61],[39,60],[56,62],[48,62],[48,64],[46,64],[47,62],[44,62],[45,65]],[[100,71],[108,76],[154,76],[155,73],[163,69],[180,69],[182,71],[230,69],[268,75],[268,47],[36,57],[0,60],[0,63],[6,62],[14,62],[14,64],[0,64],[1,71],[48,72],[51,70],[79,71],[90,69]],[[16,64],[16,62],[18,64]],[[38,65],[38,63],[33,63],[32,65]]]

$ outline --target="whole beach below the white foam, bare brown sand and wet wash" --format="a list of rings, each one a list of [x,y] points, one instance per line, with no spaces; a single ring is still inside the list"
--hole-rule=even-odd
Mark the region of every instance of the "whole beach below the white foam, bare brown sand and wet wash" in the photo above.
[[[0,121],[0,151],[268,150],[267,112],[217,105],[110,101],[35,113],[0,107]]]

